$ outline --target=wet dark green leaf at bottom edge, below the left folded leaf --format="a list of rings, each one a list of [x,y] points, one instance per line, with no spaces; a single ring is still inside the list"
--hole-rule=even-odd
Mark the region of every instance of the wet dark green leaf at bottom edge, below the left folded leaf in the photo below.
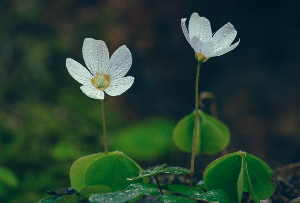
[[[96,194],[88,200],[90,203],[124,203],[138,198],[140,195],[158,195],[158,188],[150,184],[131,184],[125,191]]]

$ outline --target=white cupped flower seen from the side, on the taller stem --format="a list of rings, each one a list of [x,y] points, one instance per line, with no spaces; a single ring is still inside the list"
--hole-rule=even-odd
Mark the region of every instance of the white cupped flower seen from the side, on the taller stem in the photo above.
[[[224,25],[212,36],[212,28],[207,18],[193,13],[189,21],[189,31],[186,29],[185,21],[186,18],[181,18],[181,28],[199,63],[205,62],[210,57],[221,56],[238,46],[240,39],[230,46],[237,35],[231,23]]]

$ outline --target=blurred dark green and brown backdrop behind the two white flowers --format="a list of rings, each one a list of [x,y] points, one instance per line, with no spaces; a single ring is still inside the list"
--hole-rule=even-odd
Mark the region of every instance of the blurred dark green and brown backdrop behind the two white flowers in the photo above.
[[[236,49],[201,66],[200,90],[217,96],[228,152],[247,151],[271,167],[299,161],[299,5],[291,0],[0,1],[0,166],[19,184],[0,184],[1,202],[31,203],[70,185],[72,163],[103,151],[100,101],[84,95],[65,67],[84,64],[84,38],[110,55],[126,45],[132,87],[105,103],[109,149],[143,167],[185,167],[171,139],[194,108],[196,60],[180,28],[198,12],[216,32],[231,22]],[[198,175],[219,157],[199,156]],[[201,178],[201,177],[199,177]],[[14,187],[14,185],[17,185]]]

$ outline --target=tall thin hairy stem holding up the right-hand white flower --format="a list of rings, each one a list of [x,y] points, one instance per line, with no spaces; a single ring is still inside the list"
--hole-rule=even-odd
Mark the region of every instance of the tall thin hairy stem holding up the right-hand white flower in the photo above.
[[[196,139],[197,139],[197,127],[198,127],[198,84],[199,84],[199,72],[200,72],[200,64],[197,65],[197,75],[196,75],[196,96],[195,96],[195,125],[194,125],[194,133],[193,133],[193,143],[192,143],[192,158],[190,161],[190,171],[192,172],[190,175],[190,187],[193,187],[193,176],[194,176],[194,167],[195,167],[195,155],[196,155]]]

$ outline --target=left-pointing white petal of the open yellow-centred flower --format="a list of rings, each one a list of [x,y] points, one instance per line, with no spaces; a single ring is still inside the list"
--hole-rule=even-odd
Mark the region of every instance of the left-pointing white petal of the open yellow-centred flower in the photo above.
[[[69,74],[81,84],[91,84],[92,74],[80,63],[72,58],[66,59],[66,67]]]

